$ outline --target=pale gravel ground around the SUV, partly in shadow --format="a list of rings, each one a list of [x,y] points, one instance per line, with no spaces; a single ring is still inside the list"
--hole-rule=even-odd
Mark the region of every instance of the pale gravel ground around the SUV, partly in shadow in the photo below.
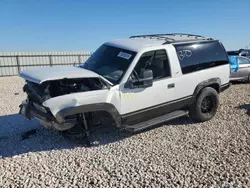
[[[249,84],[222,93],[209,122],[182,118],[132,136],[103,128],[86,148],[17,114],[23,83],[0,78],[0,187],[250,187]]]

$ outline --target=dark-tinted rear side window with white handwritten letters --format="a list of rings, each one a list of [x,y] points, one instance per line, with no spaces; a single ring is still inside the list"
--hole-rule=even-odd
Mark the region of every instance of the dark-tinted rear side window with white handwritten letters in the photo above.
[[[219,42],[174,45],[183,74],[229,64],[225,49]]]

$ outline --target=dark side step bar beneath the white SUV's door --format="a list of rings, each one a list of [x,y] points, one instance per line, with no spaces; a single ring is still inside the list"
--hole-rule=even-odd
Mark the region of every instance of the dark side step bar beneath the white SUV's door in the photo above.
[[[144,121],[144,122],[141,122],[141,123],[138,123],[138,124],[125,125],[124,129],[126,131],[135,133],[135,132],[147,129],[149,127],[152,127],[154,125],[161,124],[161,123],[164,123],[166,121],[173,120],[173,119],[176,119],[176,118],[179,118],[179,117],[182,117],[182,116],[186,116],[186,115],[188,115],[188,111],[178,110],[178,111],[174,111],[174,112],[165,114],[163,116],[160,116],[160,117],[157,117],[157,118],[154,118],[154,119],[150,119],[148,121]]]

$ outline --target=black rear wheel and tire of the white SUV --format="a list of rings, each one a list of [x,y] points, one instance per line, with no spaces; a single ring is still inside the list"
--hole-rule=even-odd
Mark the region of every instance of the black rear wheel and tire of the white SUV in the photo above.
[[[206,87],[196,97],[191,105],[189,116],[196,122],[204,122],[212,119],[219,107],[219,96],[215,89]]]

